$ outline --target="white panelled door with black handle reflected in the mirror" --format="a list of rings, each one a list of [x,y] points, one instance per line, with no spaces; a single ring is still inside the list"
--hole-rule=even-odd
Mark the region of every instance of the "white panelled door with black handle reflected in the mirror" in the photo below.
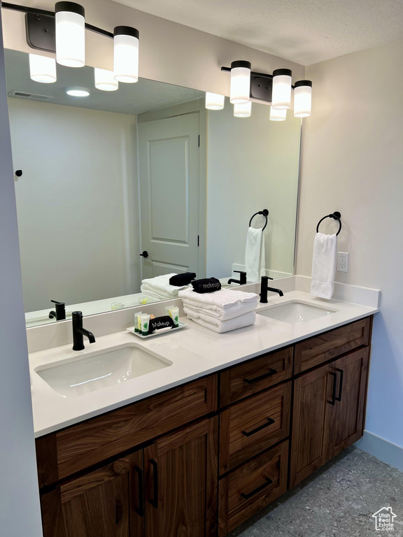
[[[199,113],[140,123],[139,171],[143,278],[197,273]]]

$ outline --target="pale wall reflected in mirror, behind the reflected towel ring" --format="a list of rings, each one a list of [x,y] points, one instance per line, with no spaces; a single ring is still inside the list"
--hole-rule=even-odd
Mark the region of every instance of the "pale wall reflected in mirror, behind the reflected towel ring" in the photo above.
[[[266,268],[294,273],[301,120],[269,121],[270,107],[252,104],[250,117],[208,111],[207,275],[224,278],[245,263],[250,217],[268,209]],[[253,227],[262,227],[256,216]]]

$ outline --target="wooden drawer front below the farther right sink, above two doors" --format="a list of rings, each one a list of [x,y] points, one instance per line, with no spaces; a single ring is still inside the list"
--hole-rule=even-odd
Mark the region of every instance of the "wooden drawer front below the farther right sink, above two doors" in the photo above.
[[[371,317],[347,324],[295,345],[294,374],[323,364],[345,352],[369,345]]]

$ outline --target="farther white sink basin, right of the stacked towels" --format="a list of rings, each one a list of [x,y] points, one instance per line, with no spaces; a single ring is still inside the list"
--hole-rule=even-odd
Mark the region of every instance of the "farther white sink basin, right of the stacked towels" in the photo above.
[[[313,306],[307,302],[292,301],[271,306],[267,310],[257,311],[256,313],[277,321],[288,322],[288,324],[302,324],[325,315],[331,315],[336,311],[338,310],[323,306]]]

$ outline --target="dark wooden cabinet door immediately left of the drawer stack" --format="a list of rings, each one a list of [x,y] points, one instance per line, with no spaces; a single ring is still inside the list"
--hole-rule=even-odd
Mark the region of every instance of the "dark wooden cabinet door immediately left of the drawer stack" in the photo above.
[[[214,536],[217,524],[218,417],[144,449],[146,536]]]

